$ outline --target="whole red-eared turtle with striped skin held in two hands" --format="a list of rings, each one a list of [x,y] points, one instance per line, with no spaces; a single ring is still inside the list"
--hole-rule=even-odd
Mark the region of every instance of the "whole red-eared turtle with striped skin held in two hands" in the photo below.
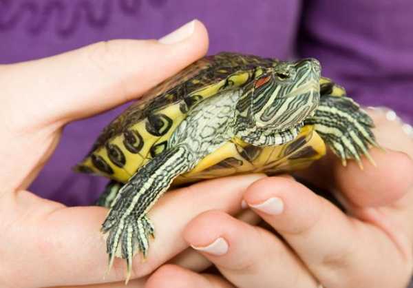
[[[321,76],[317,59],[280,61],[233,52],[205,56],[149,90],[103,129],[78,172],[111,181],[108,269],[147,257],[148,212],[171,185],[308,167],[330,148],[361,165],[377,146],[374,123],[346,90]]]

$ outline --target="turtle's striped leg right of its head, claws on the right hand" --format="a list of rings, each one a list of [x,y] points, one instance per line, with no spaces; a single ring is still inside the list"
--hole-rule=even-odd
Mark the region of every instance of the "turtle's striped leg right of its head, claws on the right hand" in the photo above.
[[[369,147],[379,146],[372,132],[374,123],[352,99],[347,96],[322,96],[315,115],[306,119],[305,123],[314,125],[321,138],[341,158],[343,165],[346,165],[347,159],[355,159],[362,169],[363,155],[375,165],[368,153]]]

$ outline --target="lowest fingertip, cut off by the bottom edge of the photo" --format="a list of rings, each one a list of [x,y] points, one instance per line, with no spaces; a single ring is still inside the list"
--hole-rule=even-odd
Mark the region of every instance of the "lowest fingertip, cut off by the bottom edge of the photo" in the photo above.
[[[235,288],[224,278],[198,274],[176,265],[163,265],[149,277],[145,288]]]

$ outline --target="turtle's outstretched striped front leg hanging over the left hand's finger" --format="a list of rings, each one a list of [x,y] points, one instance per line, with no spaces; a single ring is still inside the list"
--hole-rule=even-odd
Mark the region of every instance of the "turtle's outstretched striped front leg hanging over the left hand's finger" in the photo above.
[[[192,160],[184,147],[167,150],[142,166],[120,189],[101,229],[107,234],[108,271],[115,256],[126,259],[127,282],[134,254],[140,251],[143,258],[147,257],[149,236],[154,235],[147,212],[168,189],[173,178],[187,172]]]

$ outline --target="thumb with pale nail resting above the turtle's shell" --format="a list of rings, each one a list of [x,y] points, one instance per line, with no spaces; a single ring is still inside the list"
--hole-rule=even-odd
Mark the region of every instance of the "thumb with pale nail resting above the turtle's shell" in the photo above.
[[[33,119],[37,124],[81,119],[136,98],[203,56],[207,48],[207,30],[192,21],[160,41],[106,41],[8,65],[0,79],[2,95],[8,95],[2,105],[17,101],[26,125]]]

